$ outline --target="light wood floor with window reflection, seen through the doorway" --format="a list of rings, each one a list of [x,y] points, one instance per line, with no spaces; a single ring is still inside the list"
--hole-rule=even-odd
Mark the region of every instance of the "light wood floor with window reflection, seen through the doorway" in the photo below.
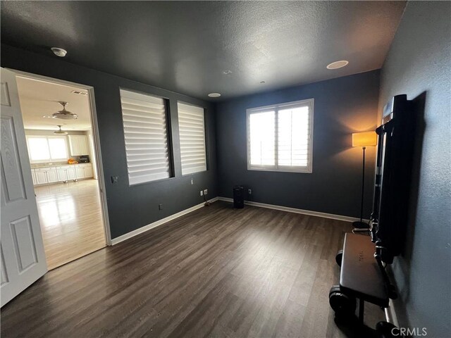
[[[35,187],[49,270],[106,244],[97,180]]]

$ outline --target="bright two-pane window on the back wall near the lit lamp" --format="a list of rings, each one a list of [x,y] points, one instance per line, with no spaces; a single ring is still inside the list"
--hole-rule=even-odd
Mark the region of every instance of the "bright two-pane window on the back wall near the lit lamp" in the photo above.
[[[311,173],[314,99],[247,110],[247,169]]]

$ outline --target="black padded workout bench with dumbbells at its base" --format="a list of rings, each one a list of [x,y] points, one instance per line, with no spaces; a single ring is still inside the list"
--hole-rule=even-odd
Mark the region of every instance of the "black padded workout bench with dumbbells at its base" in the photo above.
[[[357,299],[359,299],[359,323],[364,322],[364,302],[376,304],[385,309],[387,322],[376,325],[381,337],[390,337],[390,330],[395,327],[388,318],[389,299],[395,298],[393,286],[388,280],[385,268],[377,252],[376,244],[369,236],[347,233],[342,252],[338,253],[340,265],[340,284],[330,289],[329,303],[338,319],[355,316]],[[341,257],[341,259],[340,259]]]

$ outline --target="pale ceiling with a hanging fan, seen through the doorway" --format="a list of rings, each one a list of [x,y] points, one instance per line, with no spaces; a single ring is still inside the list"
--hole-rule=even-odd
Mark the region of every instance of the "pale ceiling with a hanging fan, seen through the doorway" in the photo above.
[[[88,96],[73,94],[73,90],[87,92],[85,89],[25,77],[17,77],[17,87],[25,129],[58,130],[57,125],[63,130],[91,129]],[[63,108],[58,101],[68,102],[66,110],[77,114],[78,119],[48,118]]]

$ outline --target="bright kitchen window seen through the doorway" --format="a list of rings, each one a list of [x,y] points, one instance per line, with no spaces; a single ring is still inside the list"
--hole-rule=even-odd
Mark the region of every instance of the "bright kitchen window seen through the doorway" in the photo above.
[[[68,159],[66,137],[27,136],[27,146],[31,163],[65,161]]]

